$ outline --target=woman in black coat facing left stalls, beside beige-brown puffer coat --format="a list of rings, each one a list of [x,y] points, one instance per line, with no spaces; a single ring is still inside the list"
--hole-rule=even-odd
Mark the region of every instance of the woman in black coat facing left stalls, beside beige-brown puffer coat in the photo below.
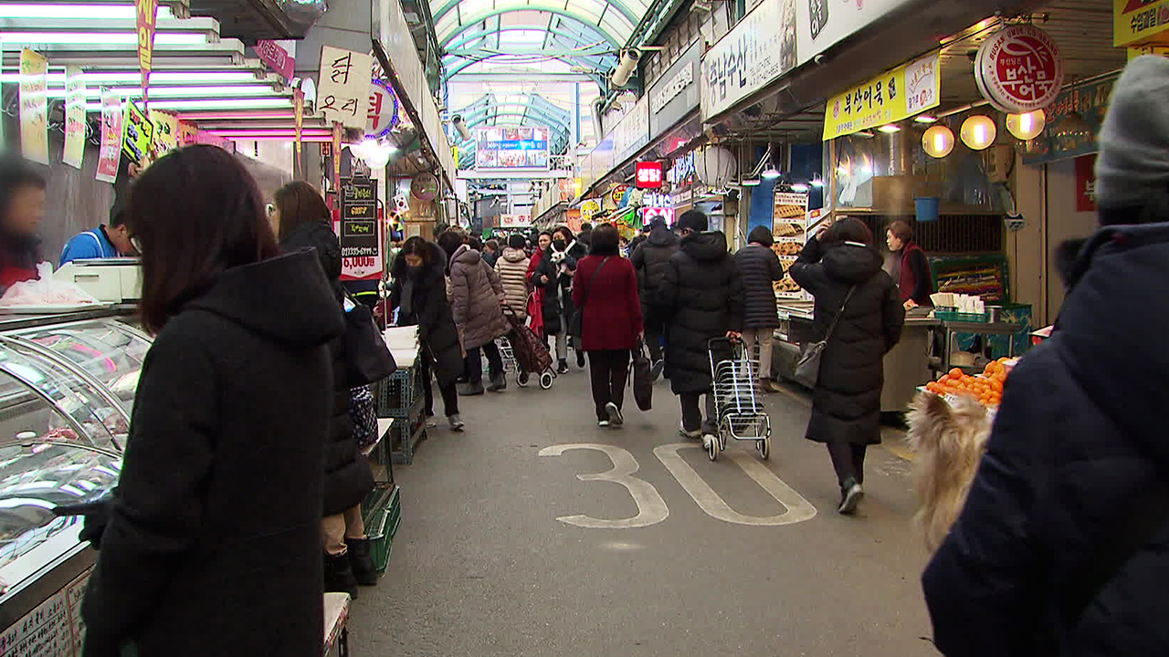
[[[438,380],[443,409],[451,430],[462,431],[458,416],[458,389],[463,374],[463,347],[458,328],[447,299],[447,256],[438,244],[422,237],[410,237],[402,244],[390,268],[394,279],[389,303],[397,310],[399,326],[417,326],[422,344],[422,390],[427,417],[434,416],[434,392],[430,373]]]

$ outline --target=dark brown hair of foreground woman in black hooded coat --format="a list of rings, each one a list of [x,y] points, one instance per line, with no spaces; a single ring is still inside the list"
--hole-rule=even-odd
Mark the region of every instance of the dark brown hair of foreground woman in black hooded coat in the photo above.
[[[256,181],[217,146],[172,151],[139,174],[129,224],[143,253],[143,326],[155,334],[223,271],[281,253]]]

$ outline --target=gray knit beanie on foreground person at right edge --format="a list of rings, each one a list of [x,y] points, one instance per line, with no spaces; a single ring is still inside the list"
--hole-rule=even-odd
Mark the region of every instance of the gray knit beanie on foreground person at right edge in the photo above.
[[[1169,194],[1167,103],[1169,60],[1143,55],[1129,62],[1113,88],[1100,129],[1095,191],[1101,224],[1169,219],[1142,212],[1151,200]]]

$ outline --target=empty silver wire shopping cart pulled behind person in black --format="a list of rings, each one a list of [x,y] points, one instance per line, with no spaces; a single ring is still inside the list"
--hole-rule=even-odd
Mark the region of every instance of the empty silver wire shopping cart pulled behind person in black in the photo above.
[[[711,461],[718,459],[719,452],[727,448],[727,440],[734,438],[754,441],[755,451],[766,461],[772,454],[772,420],[759,388],[759,364],[752,360],[741,340],[714,338],[707,343],[707,352],[719,434],[705,445],[706,455]]]

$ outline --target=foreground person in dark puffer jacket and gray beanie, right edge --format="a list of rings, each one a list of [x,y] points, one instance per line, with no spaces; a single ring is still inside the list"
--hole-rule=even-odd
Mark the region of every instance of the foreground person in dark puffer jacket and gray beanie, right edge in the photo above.
[[[1129,62],[1100,130],[1102,228],[1051,338],[1007,380],[922,576],[949,657],[1169,655],[1169,61]]]

